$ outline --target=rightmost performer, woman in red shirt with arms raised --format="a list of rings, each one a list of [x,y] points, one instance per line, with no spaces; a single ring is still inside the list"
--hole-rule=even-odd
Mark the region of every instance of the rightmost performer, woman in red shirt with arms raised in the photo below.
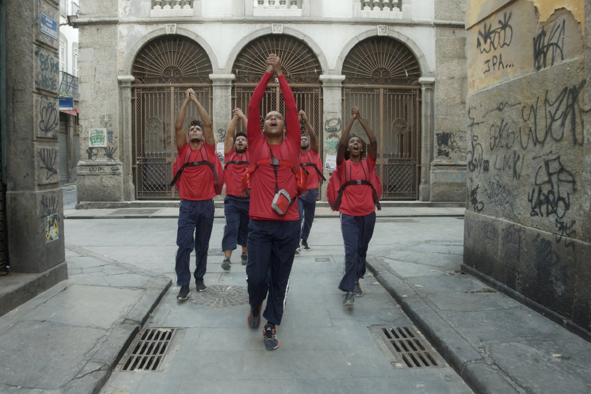
[[[359,115],[359,108],[351,109],[353,115],[340,137],[336,153],[336,168],[344,182],[370,180],[370,172],[375,168],[378,141],[374,133]],[[369,145],[356,135],[349,136],[355,120],[359,121],[369,139]],[[365,155],[367,154],[367,157]],[[343,305],[353,305],[355,298],[363,293],[359,278],[365,275],[365,258],[369,240],[374,235],[375,201],[372,188],[365,184],[349,185],[343,190],[339,207],[340,228],[345,243],[345,274],[339,289],[346,291]]]

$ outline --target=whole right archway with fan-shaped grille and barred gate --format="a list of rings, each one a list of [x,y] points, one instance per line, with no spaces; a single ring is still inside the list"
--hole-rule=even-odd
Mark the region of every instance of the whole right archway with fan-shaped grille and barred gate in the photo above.
[[[352,106],[378,139],[376,170],[384,200],[417,200],[420,152],[420,66],[414,54],[389,37],[370,37],[343,62],[343,119]],[[365,136],[359,123],[351,131]],[[367,139],[365,139],[367,141]]]

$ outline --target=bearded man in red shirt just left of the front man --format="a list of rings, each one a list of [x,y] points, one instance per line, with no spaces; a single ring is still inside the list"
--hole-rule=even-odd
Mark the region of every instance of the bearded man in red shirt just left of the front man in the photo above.
[[[246,265],[247,261],[248,209],[251,199],[242,194],[242,174],[248,167],[248,141],[244,131],[236,132],[239,119],[242,119],[242,130],[246,130],[246,116],[240,108],[235,108],[224,141],[226,197],[223,200],[223,212],[226,216],[226,226],[223,228],[222,238],[222,268],[226,270],[230,269],[232,250],[238,245],[242,246],[242,265]]]

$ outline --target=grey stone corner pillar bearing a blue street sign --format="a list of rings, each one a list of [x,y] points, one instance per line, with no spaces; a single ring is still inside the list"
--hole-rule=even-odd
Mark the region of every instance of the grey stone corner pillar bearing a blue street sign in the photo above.
[[[21,292],[20,304],[67,279],[58,146],[60,15],[57,2],[4,4],[8,252],[13,272],[40,274],[33,291]]]

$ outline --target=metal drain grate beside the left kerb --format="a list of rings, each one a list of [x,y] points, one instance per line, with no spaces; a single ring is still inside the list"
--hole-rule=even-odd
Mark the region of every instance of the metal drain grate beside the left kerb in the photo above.
[[[121,370],[158,370],[176,331],[176,328],[144,328],[125,353]]]

